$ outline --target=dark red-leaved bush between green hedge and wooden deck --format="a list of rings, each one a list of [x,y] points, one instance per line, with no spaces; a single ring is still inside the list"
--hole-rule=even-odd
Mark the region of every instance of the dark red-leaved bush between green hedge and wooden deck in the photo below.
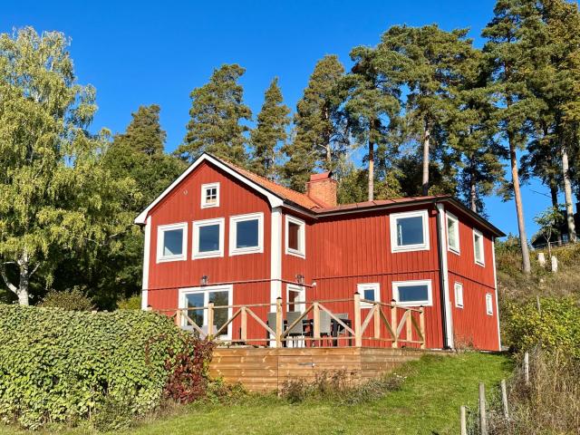
[[[189,333],[181,335],[183,345],[179,351],[169,350],[165,370],[169,378],[164,396],[179,403],[190,403],[206,395],[208,388],[208,364],[215,343],[199,340]]]

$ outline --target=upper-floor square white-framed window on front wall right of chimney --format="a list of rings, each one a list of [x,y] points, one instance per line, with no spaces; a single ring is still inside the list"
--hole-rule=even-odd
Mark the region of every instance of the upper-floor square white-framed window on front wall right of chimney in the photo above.
[[[391,219],[391,252],[429,250],[427,210],[394,213]]]

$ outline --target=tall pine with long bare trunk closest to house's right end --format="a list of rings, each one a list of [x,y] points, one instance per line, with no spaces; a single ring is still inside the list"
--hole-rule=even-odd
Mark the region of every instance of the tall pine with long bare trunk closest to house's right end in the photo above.
[[[527,3],[524,5],[523,3]],[[522,28],[527,20],[536,20],[533,5],[520,0],[498,0],[494,17],[483,30],[488,38],[484,52],[493,72],[491,83],[498,96],[498,126],[505,140],[511,169],[511,189],[516,202],[517,227],[522,252],[522,268],[531,272],[527,246],[524,206],[521,198],[517,165],[517,150],[527,144],[531,131],[530,117],[538,109],[538,102],[527,88],[526,73],[530,71],[530,58]]]

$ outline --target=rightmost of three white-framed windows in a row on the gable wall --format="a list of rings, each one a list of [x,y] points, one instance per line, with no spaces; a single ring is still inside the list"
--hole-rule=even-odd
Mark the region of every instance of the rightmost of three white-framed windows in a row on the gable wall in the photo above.
[[[229,218],[229,255],[264,252],[264,213]]]

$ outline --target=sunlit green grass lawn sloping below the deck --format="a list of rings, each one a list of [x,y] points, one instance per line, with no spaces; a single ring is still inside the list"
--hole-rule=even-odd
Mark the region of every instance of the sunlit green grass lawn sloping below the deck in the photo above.
[[[459,433],[459,406],[476,406],[478,382],[485,382],[490,388],[507,377],[511,369],[511,360],[499,354],[427,356],[401,367],[397,372],[407,376],[401,390],[392,391],[380,400],[357,405],[330,401],[289,404],[275,396],[258,396],[233,405],[184,406],[177,415],[142,423],[125,433],[456,434]],[[0,426],[0,435],[8,433],[26,432]],[[77,429],[59,433],[94,432]]]

